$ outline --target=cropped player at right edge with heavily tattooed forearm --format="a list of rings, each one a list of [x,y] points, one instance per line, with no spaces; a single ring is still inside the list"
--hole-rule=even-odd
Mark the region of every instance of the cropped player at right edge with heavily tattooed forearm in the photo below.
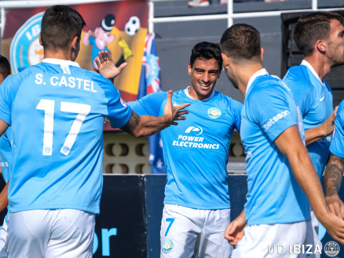
[[[344,219],[344,204],[338,196],[344,172],[344,100],[339,105],[335,131],[330,146],[330,159],[325,170],[325,194],[330,211]]]

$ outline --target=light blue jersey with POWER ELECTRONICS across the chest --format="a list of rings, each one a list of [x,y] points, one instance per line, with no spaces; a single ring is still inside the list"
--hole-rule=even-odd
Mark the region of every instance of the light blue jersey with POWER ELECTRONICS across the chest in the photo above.
[[[139,115],[163,114],[166,92],[151,93],[129,105]],[[242,104],[219,92],[201,101],[187,89],[173,93],[173,105],[191,103],[186,120],[162,131],[167,171],[164,204],[194,209],[229,208],[228,149],[239,130]]]

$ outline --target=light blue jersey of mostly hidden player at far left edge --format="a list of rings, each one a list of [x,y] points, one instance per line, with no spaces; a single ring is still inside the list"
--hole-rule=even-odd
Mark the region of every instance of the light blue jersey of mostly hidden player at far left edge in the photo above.
[[[0,137],[0,166],[3,180],[6,183],[10,179],[11,168],[13,166],[12,144],[12,128],[9,127]],[[6,223],[8,223],[9,214],[10,211],[8,210],[5,216]]]

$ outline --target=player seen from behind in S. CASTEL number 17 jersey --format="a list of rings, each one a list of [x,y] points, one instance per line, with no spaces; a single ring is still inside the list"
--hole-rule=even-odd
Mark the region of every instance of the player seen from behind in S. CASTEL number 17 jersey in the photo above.
[[[12,126],[8,257],[92,257],[103,183],[103,125],[144,137],[182,120],[189,104],[139,116],[103,76],[75,63],[85,22],[66,6],[42,18],[42,63],[0,87],[0,133]]]

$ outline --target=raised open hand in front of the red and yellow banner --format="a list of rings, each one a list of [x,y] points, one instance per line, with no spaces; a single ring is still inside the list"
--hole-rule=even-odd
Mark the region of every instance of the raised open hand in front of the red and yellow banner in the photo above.
[[[98,58],[94,58],[94,61],[98,66],[98,71],[101,75],[109,80],[113,80],[114,78],[116,78],[117,75],[119,75],[122,72],[123,68],[126,67],[128,64],[125,62],[119,67],[116,67],[109,51],[107,50],[98,52],[98,57],[99,60]]]

